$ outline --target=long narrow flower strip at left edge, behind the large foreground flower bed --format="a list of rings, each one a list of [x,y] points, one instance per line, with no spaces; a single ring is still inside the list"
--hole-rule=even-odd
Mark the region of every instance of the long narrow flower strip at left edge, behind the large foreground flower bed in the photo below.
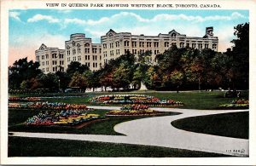
[[[27,102],[27,103],[9,103],[9,108],[21,109],[40,109],[40,110],[89,110],[86,105],[50,103],[50,102]]]

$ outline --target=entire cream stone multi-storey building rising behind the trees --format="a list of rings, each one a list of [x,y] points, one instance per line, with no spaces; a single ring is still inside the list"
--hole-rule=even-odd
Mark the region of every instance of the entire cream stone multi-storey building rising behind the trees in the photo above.
[[[70,40],[65,42],[65,50],[47,48],[42,44],[36,50],[36,56],[40,62],[40,68],[44,72],[67,70],[67,66],[71,61],[79,61],[81,64],[89,66],[91,71],[96,71],[108,63],[109,60],[116,59],[121,54],[127,53],[127,51],[136,56],[149,51],[152,55],[148,59],[148,63],[156,64],[156,54],[164,53],[172,45],[176,45],[177,48],[190,47],[218,51],[218,37],[213,36],[213,27],[206,28],[204,37],[187,37],[175,30],[167,34],[160,33],[158,36],[145,36],[143,34],[132,35],[131,32],[117,33],[111,29],[105,36],[101,37],[101,43],[92,43],[91,38],[85,37],[84,33],[76,33],[72,34]],[[57,55],[57,58],[52,55],[52,59],[49,59],[52,62],[48,62],[46,65],[45,59],[43,59],[46,54],[60,55]],[[57,66],[60,67],[58,68]]]

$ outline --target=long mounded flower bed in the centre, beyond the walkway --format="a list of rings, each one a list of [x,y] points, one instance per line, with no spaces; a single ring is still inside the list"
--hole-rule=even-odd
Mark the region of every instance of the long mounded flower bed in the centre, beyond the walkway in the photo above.
[[[147,106],[183,106],[183,102],[175,100],[160,100],[144,94],[111,94],[92,98],[91,103],[97,104],[140,104]]]

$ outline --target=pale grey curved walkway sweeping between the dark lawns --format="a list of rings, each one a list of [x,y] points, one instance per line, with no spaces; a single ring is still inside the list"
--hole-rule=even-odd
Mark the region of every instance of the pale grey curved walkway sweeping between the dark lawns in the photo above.
[[[117,106],[90,106],[96,109],[118,109]],[[228,112],[247,112],[247,110],[202,111],[176,108],[152,108],[161,112],[181,112],[182,114],[165,117],[148,117],[119,123],[114,130],[123,135],[73,135],[14,132],[13,136],[52,138],[67,140],[90,140],[113,143],[164,146],[201,152],[215,152],[233,156],[247,157],[249,140],[217,135],[199,134],[176,129],[171,122],[185,117],[195,117]]]

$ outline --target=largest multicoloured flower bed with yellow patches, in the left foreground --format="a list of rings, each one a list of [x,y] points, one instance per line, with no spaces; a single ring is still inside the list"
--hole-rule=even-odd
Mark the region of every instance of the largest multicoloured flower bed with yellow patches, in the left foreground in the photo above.
[[[43,111],[26,120],[26,125],[76,125],[79,123],[89,122],[99,119],[98,114],[87,114],[80,111]]]

